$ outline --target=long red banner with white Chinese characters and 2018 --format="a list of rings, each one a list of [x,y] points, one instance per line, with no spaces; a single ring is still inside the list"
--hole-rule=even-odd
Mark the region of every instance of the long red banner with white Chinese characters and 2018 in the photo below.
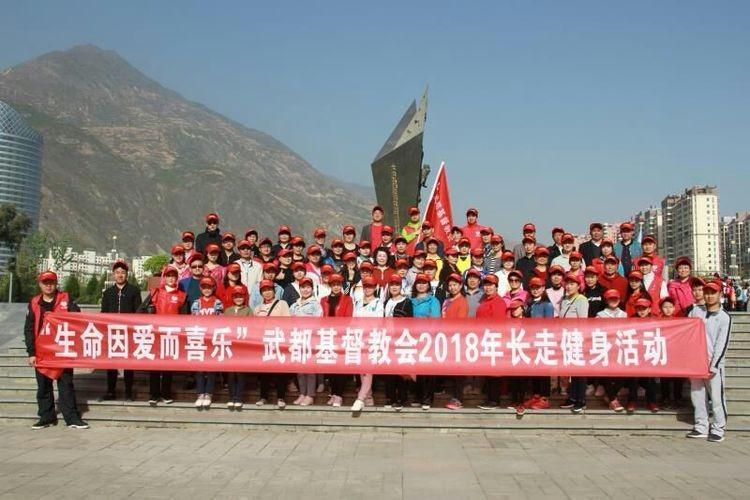
[[[52,313],[41,368],[705,377],[699,319],[318,318]]]

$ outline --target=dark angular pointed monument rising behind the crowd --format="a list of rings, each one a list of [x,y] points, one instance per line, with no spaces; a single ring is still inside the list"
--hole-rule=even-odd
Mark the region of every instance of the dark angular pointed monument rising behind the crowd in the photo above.
[[[372,178],[384,221],[400,230],[409,221],[409,207],[418,205],[429,174],[422,166],[422,138],[427,121],[427,89],[417,107],[412,101],[401,121],[372,162]]]

